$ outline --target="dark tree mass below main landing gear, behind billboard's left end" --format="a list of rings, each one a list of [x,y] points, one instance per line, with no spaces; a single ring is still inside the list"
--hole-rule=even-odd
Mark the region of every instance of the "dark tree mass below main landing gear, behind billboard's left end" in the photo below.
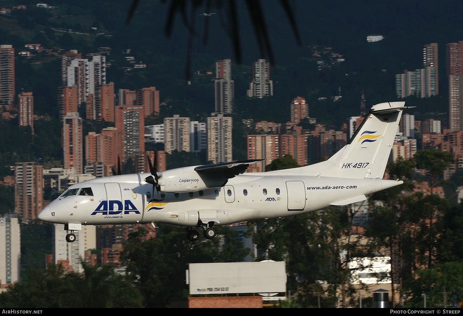
[[[168,307],[169,299],[185,297],[185,270],[189,263],[241,261],[249,249],[243,248],[238,232],[226,227],[216,228],[212,240],[189,242],[185,231],[161,225],[156,238],[141,241],[144,229],[132,233],[121,253],[127,260],[127,272],[144,296],[144,306]]]

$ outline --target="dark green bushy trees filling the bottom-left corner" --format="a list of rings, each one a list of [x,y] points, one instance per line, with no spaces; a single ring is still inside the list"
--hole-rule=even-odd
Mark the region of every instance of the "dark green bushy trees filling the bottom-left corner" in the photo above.
[[[113,266],[66,273],[61,265],[31,269],[22,282],[0,293],[1,308],[139,308],[142,296]]]

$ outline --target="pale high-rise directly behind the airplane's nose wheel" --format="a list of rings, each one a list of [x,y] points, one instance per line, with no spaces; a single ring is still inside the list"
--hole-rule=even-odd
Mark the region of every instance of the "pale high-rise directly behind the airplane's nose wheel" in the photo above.
[[[53,230],[53,261],[58,265],[63,260],[69,260],[69,265],[75,273],[84,271],[81,259],[85,258],[85,251],[96,248],[96,227],[82,225],[82,230],[75,230],[75,242],[67,242],[64,225],[55,224]]]

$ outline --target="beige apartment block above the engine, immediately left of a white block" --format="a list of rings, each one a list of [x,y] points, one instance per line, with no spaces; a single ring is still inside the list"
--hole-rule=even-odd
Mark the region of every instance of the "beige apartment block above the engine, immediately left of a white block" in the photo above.
[[[164,118],[164,151],[190,151],[190,118]]]

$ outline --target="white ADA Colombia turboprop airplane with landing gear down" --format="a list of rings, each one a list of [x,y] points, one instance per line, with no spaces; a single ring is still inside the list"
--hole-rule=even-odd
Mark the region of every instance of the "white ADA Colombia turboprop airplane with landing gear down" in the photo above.
[[[38,215],[64,224],[68,242],[82,225],[164,223],[195,241],[213,227],[288,217],[346,205],[403,183],[383,180],[405,102],[374,105],[349,143],[327,161],[265,173],[244,173],[261,160],[224,162],[150,173],[114,175],[70,186]],[[156,166],[156,163],[154,164]]]

